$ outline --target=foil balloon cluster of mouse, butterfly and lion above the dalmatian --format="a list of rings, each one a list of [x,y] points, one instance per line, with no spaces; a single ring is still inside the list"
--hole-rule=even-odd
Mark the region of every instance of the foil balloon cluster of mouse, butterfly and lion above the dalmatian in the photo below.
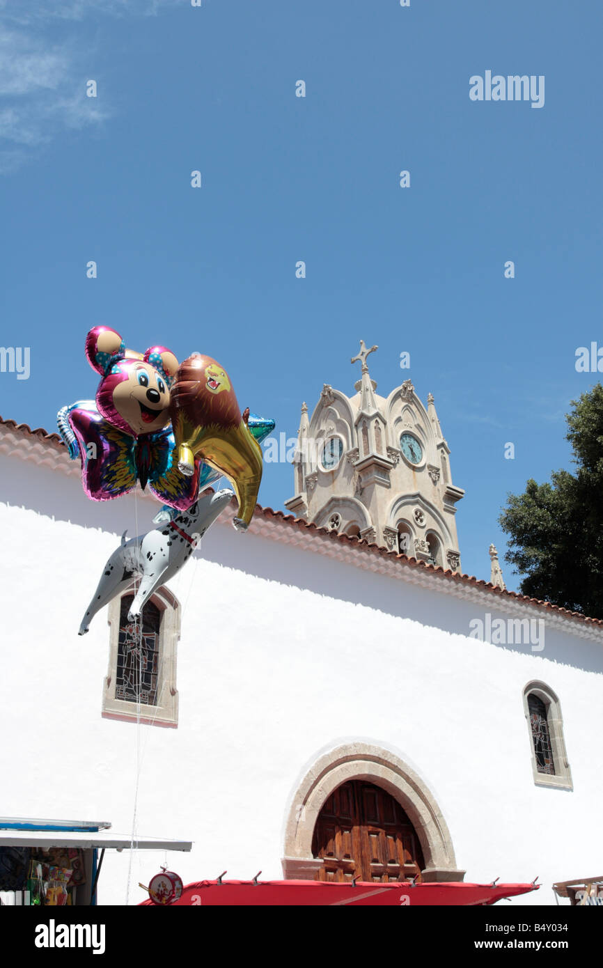
[[[138,482],[169,517],[224,475],[239,503],[234,527],[246,530],[261,481],[259,444],[274,420],[241,413],[226,370],[210,356],[194,353],[179,365],[166,347],[127,349],[109,326],[90,330],[85,355],[101,376],[96,397],[61,408],[57,423],[81,461],[88,498],[120,498]]]

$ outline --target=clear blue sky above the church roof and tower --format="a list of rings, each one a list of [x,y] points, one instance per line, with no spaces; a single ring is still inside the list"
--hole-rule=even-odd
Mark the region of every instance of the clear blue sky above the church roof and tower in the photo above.
[[[0,0],[0,24],[0,345],[31,352],[0,413],[53,430],[92,397],[106,323],[216,357],[289,437],[323,382],[352,392],[362,337],[379,393],[434,393],[489,578],[506,493],[570,466],[599,376],[575,352],[603,345],[601,4]],[[544,106],[470,101],[487,70],[545,76]],[[266,465],[261,502],[291,495]]]

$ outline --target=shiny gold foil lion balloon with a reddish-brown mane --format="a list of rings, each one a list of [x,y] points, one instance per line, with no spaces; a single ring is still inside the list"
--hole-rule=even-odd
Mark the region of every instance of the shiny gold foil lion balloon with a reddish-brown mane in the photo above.
[[[178,468],[191,475],[200,458],[225,474],[239,502],[234,527],[247,530],[261,481],[261,448],[248,427],[249,409],[241,415],[226,370],[211,356],[194,353],[176,373],[169,412]]]

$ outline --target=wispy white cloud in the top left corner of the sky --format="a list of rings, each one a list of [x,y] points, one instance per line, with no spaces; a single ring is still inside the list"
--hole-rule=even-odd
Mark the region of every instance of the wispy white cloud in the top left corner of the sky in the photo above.
[[[82,43],[83,21],[156,15],[177,2],[0,0],[0,173],[14,171],[65,131],[110,117],[106,97],[101,106],[86,96],[90,39],[86,32]]]

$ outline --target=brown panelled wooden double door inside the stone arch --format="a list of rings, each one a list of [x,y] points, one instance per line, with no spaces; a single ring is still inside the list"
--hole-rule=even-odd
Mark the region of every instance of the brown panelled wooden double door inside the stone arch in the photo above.
[[[313,854],[323,862],[318,881],[420,881],[425,866],[418,837],[400,803],[364,780],[348,780],[324,802]]]

